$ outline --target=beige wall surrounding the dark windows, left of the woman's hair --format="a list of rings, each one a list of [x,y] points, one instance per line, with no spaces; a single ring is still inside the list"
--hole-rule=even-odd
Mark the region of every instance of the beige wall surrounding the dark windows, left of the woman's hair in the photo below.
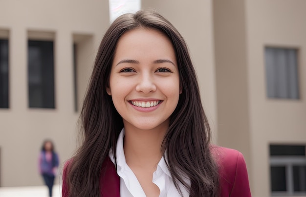
[[[78,101],[82,102],[96,50],[109,26],[106,0],[0,2],[0,36],[9,39],[9,109],[0,109],[0,184],[43,184],[38,155],[45,138],[61,163],[76,148],[73,43],[77,43]],[[28,108],[27,41],[54,41],[55,109]]]

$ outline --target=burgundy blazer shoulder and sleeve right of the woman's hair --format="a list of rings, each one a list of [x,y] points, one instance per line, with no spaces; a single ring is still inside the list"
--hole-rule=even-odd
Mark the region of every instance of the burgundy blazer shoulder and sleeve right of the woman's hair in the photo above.
[[[219,146],[213,146],[211,151],[219,167],[221,196],[251,197],[246,163],[242,153]]]

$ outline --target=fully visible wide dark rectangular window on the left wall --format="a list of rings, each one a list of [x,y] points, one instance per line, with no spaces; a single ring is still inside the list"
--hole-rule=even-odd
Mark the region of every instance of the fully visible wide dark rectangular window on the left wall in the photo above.
[[[53,41],[28,41],[30,108],[55,108]]]

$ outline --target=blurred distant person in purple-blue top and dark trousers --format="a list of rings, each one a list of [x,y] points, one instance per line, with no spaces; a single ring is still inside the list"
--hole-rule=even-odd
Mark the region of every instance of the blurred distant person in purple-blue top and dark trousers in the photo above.
[[[58,166],[59,157],[54,151],[54,145],[51,140],[45,140],[39,155],[39,172],[44,178],[44,184],[49,189],[49,197],[52,197],[52,188]]]

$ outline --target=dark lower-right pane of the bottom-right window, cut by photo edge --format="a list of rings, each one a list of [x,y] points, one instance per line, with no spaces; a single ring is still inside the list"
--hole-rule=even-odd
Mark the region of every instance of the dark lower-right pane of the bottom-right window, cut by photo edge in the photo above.
[[[295,192],[306,192],[306,166],[293,166]]]

